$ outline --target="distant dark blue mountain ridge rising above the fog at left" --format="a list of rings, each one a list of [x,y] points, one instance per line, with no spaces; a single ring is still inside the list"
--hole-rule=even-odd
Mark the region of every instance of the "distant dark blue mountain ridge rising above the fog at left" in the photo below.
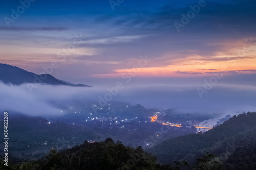
[[[75,85],[66,81],[61,81],[49,74],[36,75],[33,72],[26,71],[22,68],[2,63],[0,63],[0,81],[13,85],[20,85],[24,83],[41,83],[49,85],[91,87],[84,84]]]

